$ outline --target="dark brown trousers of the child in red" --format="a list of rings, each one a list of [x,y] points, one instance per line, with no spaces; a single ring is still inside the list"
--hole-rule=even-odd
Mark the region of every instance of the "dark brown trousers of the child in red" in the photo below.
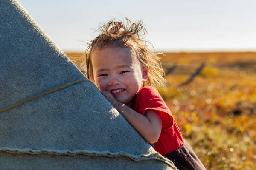
[[[173,161],[179,170],[206,170],[185,139],[183,139],[183,145],[179,149],[168,153],[165,157]]]

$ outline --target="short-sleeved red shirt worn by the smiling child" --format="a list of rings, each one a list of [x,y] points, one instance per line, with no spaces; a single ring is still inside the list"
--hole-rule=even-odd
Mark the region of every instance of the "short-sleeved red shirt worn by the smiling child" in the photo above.
[[[131,101],[130,108],[142,115],[145,115],[146,110],[152,109],[160,116],[162,130],[158,141],[154,143],[154,150],[161,155],[166,155],[181,147],[183,139],[180,129],[156,89],[151,86],[141,88]]]

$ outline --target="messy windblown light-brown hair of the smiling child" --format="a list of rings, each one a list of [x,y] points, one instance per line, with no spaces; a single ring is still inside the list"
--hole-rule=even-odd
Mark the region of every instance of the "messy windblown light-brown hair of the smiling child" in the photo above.
[[[142,21],[132,23],[131,20],[126,18],[125,25],[123,22],[112,20],[107,24],[102,24],[99,32],[100,35],[98,37],[87,41],[89,46],[86,50],[85,65],[88,79],[94,82],[91,62],[93,49],[102,49],[106,46],[129,47],[135,52],[141,66],[149,65],[148,80],[143,85],[152,86],[157,89],[161,89],[166,85],[160,58],[157,56],[161,53],[151,52],[147,45],[144,44],[147,31],[143,28]],[[141,34],[143,35],[142,37]]]

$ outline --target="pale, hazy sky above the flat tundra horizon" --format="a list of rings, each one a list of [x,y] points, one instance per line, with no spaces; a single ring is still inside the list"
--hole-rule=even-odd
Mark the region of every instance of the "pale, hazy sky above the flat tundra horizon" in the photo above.
[[[64,52],[112,18],[143,20],[157,51],[256,51],[256,0],[18,0]]]

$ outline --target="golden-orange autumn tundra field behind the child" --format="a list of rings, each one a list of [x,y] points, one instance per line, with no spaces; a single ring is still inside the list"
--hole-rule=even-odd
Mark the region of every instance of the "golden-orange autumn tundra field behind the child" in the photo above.
[[[66,53],[80,65],[83,54]],[[256,170],[256,53],[165,53],[160,91],[207,170]],[[201,63],[193,81],[180,86]]]

